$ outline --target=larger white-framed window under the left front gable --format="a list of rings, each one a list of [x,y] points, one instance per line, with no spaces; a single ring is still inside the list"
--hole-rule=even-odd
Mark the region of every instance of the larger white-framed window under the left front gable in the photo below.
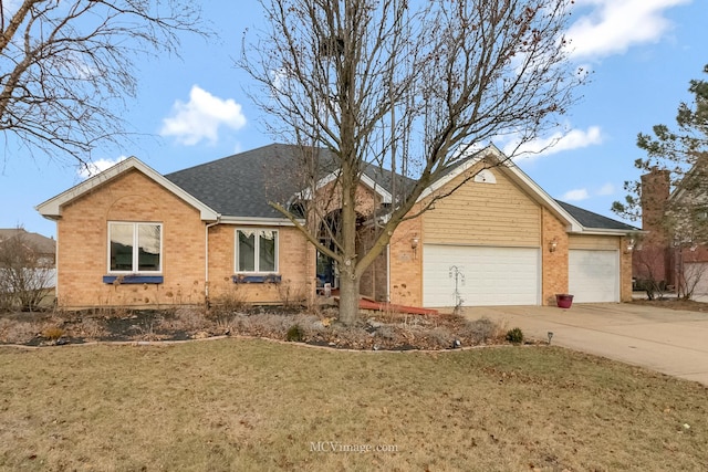
[[[159,273],[163,270],[163,225],[112,221],[108,223],[108,271]]]

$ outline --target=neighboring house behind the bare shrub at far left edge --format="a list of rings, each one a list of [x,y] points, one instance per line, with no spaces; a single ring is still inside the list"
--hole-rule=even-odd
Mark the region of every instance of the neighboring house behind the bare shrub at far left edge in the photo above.
[[[14,252],[22,249],[20,260],[30,264],[27,268],[37,271],[35,282],[30,283],[32,287],[52,289],[56,284],[55,258],[56,242],[52,238],[46,238],[39,233],[31,233],[23,228],[0,228],[0,270],[6,269],[9,260],[6,258],[7,251]],[[12,258],[14,260],[14,258]],[[17,289],[17,287],[14,287]]]

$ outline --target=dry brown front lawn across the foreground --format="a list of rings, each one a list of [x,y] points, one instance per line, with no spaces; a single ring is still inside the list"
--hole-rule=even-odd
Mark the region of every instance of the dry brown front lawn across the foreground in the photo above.
[[[556,347],[0,347],[0,379],[2,470],[708,470],[708,389]]]

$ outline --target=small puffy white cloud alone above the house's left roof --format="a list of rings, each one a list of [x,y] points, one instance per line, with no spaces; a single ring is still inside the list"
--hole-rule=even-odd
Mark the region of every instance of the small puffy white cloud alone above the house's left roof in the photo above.
[[[189,102],[176,101],[171,116],[163,119],[162,136],[174,136],[186,146],[194,146],[207,139],[216,143],[219,127],[240,129],[246,126],[241,105],[233,99],[222,99],[194,85]]]

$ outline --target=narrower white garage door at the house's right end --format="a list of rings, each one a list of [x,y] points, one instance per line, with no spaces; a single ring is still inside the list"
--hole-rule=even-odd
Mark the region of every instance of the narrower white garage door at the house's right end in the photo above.
[[[576,303],[620,302],[620,253],[571,249],[569,293]]]

